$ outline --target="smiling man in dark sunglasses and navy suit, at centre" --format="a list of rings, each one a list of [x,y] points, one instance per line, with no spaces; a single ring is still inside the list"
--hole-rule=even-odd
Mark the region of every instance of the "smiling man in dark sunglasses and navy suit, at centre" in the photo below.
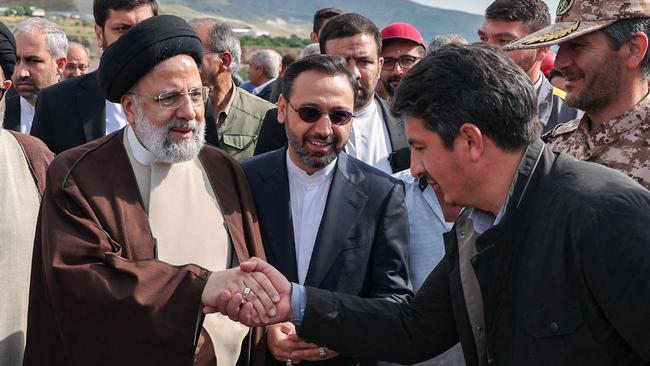
[[[296,283],[405,302],[412,290],[403,185],[344,152],[357,88],[340,56],[293,63],[278,99],[289,144],[242,166],[269,263]],[[268,364],[358,362],[301,341],[294,330],[269,327]]]

